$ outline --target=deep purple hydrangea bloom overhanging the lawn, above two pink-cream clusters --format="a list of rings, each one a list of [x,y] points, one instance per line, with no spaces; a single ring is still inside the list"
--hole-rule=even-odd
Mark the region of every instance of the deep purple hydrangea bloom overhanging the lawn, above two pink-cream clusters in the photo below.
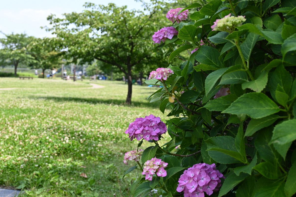
[[[133,139],[140,140],[144,138],[145,140],[158,140],[159,136],[167,132],[167,127],[163,121],[160,120],[160,117],[155,117],[155,115],[145,116],[145,118],[136,118],[132,122],[126,134],[129,134],[131,141]]]

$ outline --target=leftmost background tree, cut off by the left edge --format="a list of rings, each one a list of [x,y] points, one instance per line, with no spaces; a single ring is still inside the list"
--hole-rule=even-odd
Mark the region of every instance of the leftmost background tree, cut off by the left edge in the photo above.
[[[31,62],[32,56],[28,54],[27,45],[34,39],[33,36],[28,36],[25,33],[21,34],[4,34],[6,38],[0,38],[2,49],[0,49],[0,56],[3,65],[15,66],[15,76],[17,75],[17,66],[22,62],[23,64]]]

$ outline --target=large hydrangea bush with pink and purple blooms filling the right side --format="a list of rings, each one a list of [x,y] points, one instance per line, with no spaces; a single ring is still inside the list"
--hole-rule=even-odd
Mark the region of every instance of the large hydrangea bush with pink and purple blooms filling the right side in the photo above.
[[[141,140],[138,149],[144,139],[153,143],[125,173],[138,169],[145,175],[131,193],[147,196],[159,188],[163,197],[291,197],[296,192],[296,1],[199,3],[168,12],[177,35],[152,38],[164,42],[155,51],[174,48],[167,53],[169,62],[184,62],[152,71],[146,81],[163,87],[151,102],[160,101],[160,111],[170,113],[166,127],[157,125],[160,120],[146,128],[137,122],[126,132]],[[163,131],[153,133],[152,125]],[[171,140],[160,146],[163,135]],[[160,161],[167,165],[160,168]]]

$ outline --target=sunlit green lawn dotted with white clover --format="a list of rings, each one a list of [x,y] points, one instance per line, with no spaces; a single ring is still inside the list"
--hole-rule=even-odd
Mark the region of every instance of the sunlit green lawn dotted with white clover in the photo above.
[[[142,175],[122,180],[134,165],[123,164],[123,156],[138,142],[124,131],[137,117],[165,120],[168,111],[147,101],[157,88],[137,85],[133,104],[124,105],[127,88],[112,81],[0,78],[0,185],[22,188],[23,196],[130,196]]]

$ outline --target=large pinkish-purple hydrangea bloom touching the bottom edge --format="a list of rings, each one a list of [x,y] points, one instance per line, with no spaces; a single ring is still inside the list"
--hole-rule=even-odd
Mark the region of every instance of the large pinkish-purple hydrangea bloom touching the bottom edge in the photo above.
[[[205,193],[210,196],[221,187],[220,178],[225,177],[216,170],[215,164],[195,164],[181,175],[177,191],[184,191],[184,197],[204,197]]]

